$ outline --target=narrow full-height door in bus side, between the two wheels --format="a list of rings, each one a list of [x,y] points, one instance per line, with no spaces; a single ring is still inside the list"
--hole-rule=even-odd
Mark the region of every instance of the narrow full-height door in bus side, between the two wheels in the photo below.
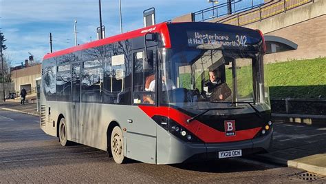
[[[80,127],[80,63],[72,64],[72,139],[81,141]]]

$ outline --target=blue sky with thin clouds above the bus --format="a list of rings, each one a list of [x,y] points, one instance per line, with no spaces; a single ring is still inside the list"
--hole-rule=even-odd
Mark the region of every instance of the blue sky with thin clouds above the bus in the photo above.
[[[142,28],[142,12],[151,7],[155,8],[156,23],[160,23],[211,6],[207,0],[121,0],[123,32]],[[106,37],[120,34],[119,0],[102,0],[101,8]],[[75,20],[78,44],[94,41],[100,24],[98,0],[0,0],[0,17],[8,48],[4,54],[12,66],[28,59],[28,52],[41,61],[50,52],[50,32],[54,52],[74,46]]]

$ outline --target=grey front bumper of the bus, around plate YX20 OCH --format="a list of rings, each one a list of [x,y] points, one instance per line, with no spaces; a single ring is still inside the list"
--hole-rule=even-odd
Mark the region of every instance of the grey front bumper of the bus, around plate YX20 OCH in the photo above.
[[[255,139],[228,143],[185,143],[170,136],[169,147],[157,145],[157,164],[214,160],[219,159],[219,152],[229,150],[241,150],[242,156],[266,152],[272,143],[272,134],[273,130]]]

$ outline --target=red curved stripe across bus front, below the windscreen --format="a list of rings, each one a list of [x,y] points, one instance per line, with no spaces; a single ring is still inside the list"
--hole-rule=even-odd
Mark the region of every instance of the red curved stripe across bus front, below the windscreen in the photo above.
[[[209,127],[208,125],[205,125],[204,123],[197,120],[191,121],[191,123],[186,123],[186,120],[190,119],[191,116],[188,116],[173,108],[142,105],[140,105],[139,108],[151,118],[155,115],[158,115],[173,119],[173,121],[176,121],[185,127],[188,131],[195,134],[195,136],[197,136],[205,143],[222,143],[253,139],[254,136],[261,130],[261,127],[256,127],[248,130],[236,131],[235,136],[226,136],[225,132],[215,130],[213,127]]]

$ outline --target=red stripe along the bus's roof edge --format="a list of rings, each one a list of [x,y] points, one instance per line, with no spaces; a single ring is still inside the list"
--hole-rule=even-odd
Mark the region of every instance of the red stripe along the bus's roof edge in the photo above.
[[[155,28],[155,30],[151,30],[153,28]],[[165,47],[166,48],[171,48],[171,41],[170,41],[170,35],[169,35],[168,27],[167,27],[166,23],[159,23],[157,25],[151,25],[149,27],[142,28],[142,29],[139,29],[139,30],[133,30],[131,32],[126,32],[126,33],[123,33],[123,34],[118,34],[118,35],[113,36],[113,37],[108,37],[106,39],[100,39],[98,41],[92,41],[92,42],[89,42],[89,43],[85,43],[83,45],[78,45],[76,47],[67,48],[65,50],[60,50],[58,52],[49,53],[49,54],[46,54],[43,57],[43,60],[44,59],[50,59],[52,57],[58,57],[58,56],[61,56],[63,54],[69,54],[69,53],[76,52],[76,51],[79,51],[79,50],[85,50],[85,49],[88,49],[88,48],[95,48],[95,47],[98,47],[98,46],[101,46],[101,45],[107,45],[109,43],[114,43],[116,41],[124,41],[124,40],[127,40],[127,39],[133,39],[133,38],[136,38],[136,37],[141,37],[141,36],[144,36],[147,32],[160,32],[161,36],[162,36],[162,39],[164,39]]]

